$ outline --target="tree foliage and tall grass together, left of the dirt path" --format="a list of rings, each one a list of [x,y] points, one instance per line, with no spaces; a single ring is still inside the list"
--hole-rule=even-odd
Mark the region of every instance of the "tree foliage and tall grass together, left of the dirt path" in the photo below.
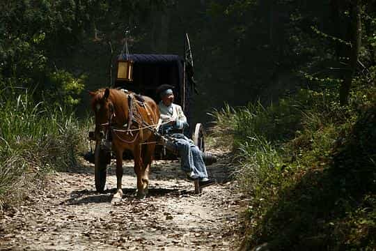
[[[86,123],[74,111],[87,75],[58,59],[86,25],[74,9],[66,1],[0,3],[0,209],[42,188],[47,172],[77,164]]]

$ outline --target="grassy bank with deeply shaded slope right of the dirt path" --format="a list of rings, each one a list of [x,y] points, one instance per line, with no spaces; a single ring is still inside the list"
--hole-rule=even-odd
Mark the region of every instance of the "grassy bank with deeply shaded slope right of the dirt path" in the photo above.
[[[251,197],[244,208],[246,250],[373,250],[376,245],[376,88],[301,89],[212,113],[233,139],[235,176]],[[218,135],[217,135],[218,136]]]

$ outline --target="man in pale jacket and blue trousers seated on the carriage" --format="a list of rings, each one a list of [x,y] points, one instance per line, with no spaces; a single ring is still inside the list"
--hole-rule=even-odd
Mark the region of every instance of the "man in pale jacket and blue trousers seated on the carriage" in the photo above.
[[[200,187],[212,185],[213,180],[207,178],[206,166],[203,162],[203,156],[191,139],[188,139],[182,132],[176,133],[177,129],[184,130],[188,126],[182,107],[173,103],[173,86],[162,84],[157,89],[161,97],[159,102],[159,111],[161,112],[161,126],[159,130],[162,134],[169,134],[174,139],[174,144],[180,156],[180,164],[183,172],[187,174],[190,180],[198,178]]]

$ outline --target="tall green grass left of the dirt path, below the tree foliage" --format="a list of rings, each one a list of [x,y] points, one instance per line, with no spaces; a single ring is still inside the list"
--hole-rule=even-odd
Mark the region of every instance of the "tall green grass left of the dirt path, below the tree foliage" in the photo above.
[[[33,102],[25,90],[2,89],[0,100],[1,209],[39,188],[46,173],[77,165],[84,134],[73,112]]]

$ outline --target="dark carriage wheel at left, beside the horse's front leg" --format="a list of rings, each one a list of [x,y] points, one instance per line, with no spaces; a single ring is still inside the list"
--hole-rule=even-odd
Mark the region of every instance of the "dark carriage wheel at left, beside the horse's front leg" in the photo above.
[[[110,156],[108,156],[109,154]],[[102,149],[100,147],[100,142],[97,141],[97,143],[95,144],[95,153],[94,153],[95,189],[97,190],[97,192],[103,192],[104,186],[106,185],[108,157],[111,158],[111,153],[107,153],[107,151]]]

